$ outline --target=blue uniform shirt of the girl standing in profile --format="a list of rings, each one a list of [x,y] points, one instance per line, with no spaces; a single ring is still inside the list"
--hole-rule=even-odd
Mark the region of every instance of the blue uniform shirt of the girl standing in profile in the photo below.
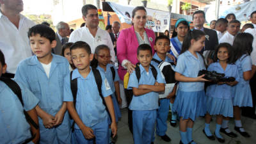
[[[197,58],[186,51],[179,55],[174,69],[185,77],[198,77],[199,70],[205,70],[204,59],[196,52]],[[179,90],[182,92],[198,92],[204,90],[204,82],[179,82]]]

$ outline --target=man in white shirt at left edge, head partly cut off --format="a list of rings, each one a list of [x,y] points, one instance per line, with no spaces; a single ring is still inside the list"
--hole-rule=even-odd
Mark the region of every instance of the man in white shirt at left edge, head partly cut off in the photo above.
[[[0,0],[0,4],[0,49],[8,65],[4,76],[14,77],[19,62],[32,56],[28,30],[35,23],[20,14],[22,0]]]

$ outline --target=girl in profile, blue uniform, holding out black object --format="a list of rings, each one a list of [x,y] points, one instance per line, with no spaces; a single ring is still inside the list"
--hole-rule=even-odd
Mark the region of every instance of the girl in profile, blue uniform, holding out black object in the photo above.
[[[180,143],[195,143],[192,139],[192,128],[197,116],[205,115],[204,59],[199,54],[204,47],[205,33],[192,29],[188,31],[182,44],[182,52],[175,67],[175,79],[180,81],[173,111],[180,117]]]

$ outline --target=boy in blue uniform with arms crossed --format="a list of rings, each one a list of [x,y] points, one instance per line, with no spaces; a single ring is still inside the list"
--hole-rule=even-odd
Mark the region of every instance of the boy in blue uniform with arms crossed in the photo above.
[[[129,109],[132,110],[133,139],[134,144],[148,144],[153,140],[156,124],[159,96],[157,92],[164,91],[164,77],[159,68],[157,77],[152,74],[150,62],[152,60],[152,49],[147,44],[141,44],[137,50],[140,61],[140,81],[136,72],[129,77],[128,88],[132,88],[133,97]]]

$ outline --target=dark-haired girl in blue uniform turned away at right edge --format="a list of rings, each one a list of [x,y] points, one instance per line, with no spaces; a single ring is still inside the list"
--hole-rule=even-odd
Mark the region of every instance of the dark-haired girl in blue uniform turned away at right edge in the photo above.
[[[250,33],[239,33],[233,43],[236,65],[240,77],[240,81],[235,87],[233,98],[235,130],[244,137],[250,137],[250,135],[244,131],[241,124],[241,107],[252,107],[252,93],[249,81],[256,70],[255,65],[252,65],[250,57],[252,42],[253,36]]]

